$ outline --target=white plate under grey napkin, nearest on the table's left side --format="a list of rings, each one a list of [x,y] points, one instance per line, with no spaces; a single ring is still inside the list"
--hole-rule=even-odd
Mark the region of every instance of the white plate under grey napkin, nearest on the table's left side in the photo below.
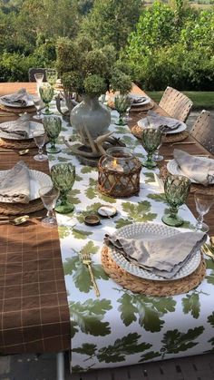
[[[53,183],[51,180],[51,177],[47,174],[45,174],[43,171],[30,171],[30,188],[31,188],[31,197],[30,200],[37,200],[40,198],[39,190],[40,188],[44,186],[50,186],[50,189],[53,187]],[[5,175],[8,173],[8,171],[0,171],[0,180],[4,180]],[[0,196],[0,202],[4,203],[10,203],[6,202],[4,197]]]

